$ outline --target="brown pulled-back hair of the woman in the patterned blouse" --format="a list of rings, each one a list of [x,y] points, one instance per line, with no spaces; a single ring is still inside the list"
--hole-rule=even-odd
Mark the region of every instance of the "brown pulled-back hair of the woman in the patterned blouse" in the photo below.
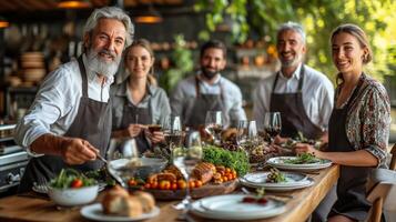
[[[353,23],[341,24],[335,30],[333,30],[332,37],[331,37],[331,42],[333,42],[334,38],[337,34],[343,33],[343,32],[355,37],[357,39],[357,41],[359,42],[361,48],[367,49],[367,53],[364,54],[362,61],[364,64],[367,64],[368,62],[370,62],[373,60],[373,51],[372,51],[372,48],[369,47],[367,34],[363,31],[363,29],[356,24],[353,24]],[[339,80],[343,82],[343,77],[341,73],[337,74],[337,79],[336,79],[337,84],[338,84]]]

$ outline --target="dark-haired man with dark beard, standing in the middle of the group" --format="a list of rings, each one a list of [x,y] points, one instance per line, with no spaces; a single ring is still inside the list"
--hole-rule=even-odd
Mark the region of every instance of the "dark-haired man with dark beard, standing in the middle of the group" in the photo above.
[[[245,120],[240,88],[221,75],[226,65],[226,48],[219,40],[204,43],[200,54],[201,71],[176,85],[171,100],[172,114],[183,125],[199,129],[205,124],[207,111],[222,111],[223,127]]]

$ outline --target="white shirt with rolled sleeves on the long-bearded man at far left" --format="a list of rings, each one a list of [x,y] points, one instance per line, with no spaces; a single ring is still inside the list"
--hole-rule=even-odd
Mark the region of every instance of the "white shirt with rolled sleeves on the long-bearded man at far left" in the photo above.
[[[84,56],[83,62],[87,64]],[[88,97],[108,102],[113,78],[108,78],[102,85],[97,73],[87,70],[87,75]],[[63,135],[77,117],[82,97],[81,84],[79,62],[75,59],[49,73],[41,83],[29,111],[17,124],[14,134],[17,144],[27,148],[30,154],[34,154],[30,152],[29,147],[40,135],[45,133]]]

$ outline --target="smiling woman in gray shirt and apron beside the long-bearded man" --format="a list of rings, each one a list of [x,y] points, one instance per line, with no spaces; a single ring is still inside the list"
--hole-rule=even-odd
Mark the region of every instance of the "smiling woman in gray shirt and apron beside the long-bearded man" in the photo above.
[[[156,87],[153,75],[154,53],[150,42],[138,39],[125,49],[125,71],[121,83],[112,87],[113,138],[135,138],[140,153],[164,140],[148,124],[161,124],[171,114],[166,93]]]

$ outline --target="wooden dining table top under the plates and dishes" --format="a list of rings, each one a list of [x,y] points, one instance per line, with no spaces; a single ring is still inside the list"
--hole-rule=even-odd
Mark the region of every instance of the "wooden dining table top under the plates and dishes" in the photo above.
[[[262,222],[304,222],[329,192],[333,185],[336,184],[339,176],[339,167],[332,165],[329,168],[315,171],[308,174],[314,179],[314,185],[305,189],[282,192],[282,194],[292,195],[293,199],[287,200],[286,211],[281,215],[262,219],[256,221]],[[235,191],[241,192],[240,190]],[[266,192],[276,195],[276,192]],[[180,211],[173,209],[173,204],[177,201],[159,201],[158,206],[161,212],[158,216],[146,220],[146,222],[169,222],[177,221]],[[47,196],[37,193],[16,194],[0,199],[0,221],[89,221],[80,214],[81,208],[59,209]],[[190,221],[213,221],[199,218],[191,214]]]

